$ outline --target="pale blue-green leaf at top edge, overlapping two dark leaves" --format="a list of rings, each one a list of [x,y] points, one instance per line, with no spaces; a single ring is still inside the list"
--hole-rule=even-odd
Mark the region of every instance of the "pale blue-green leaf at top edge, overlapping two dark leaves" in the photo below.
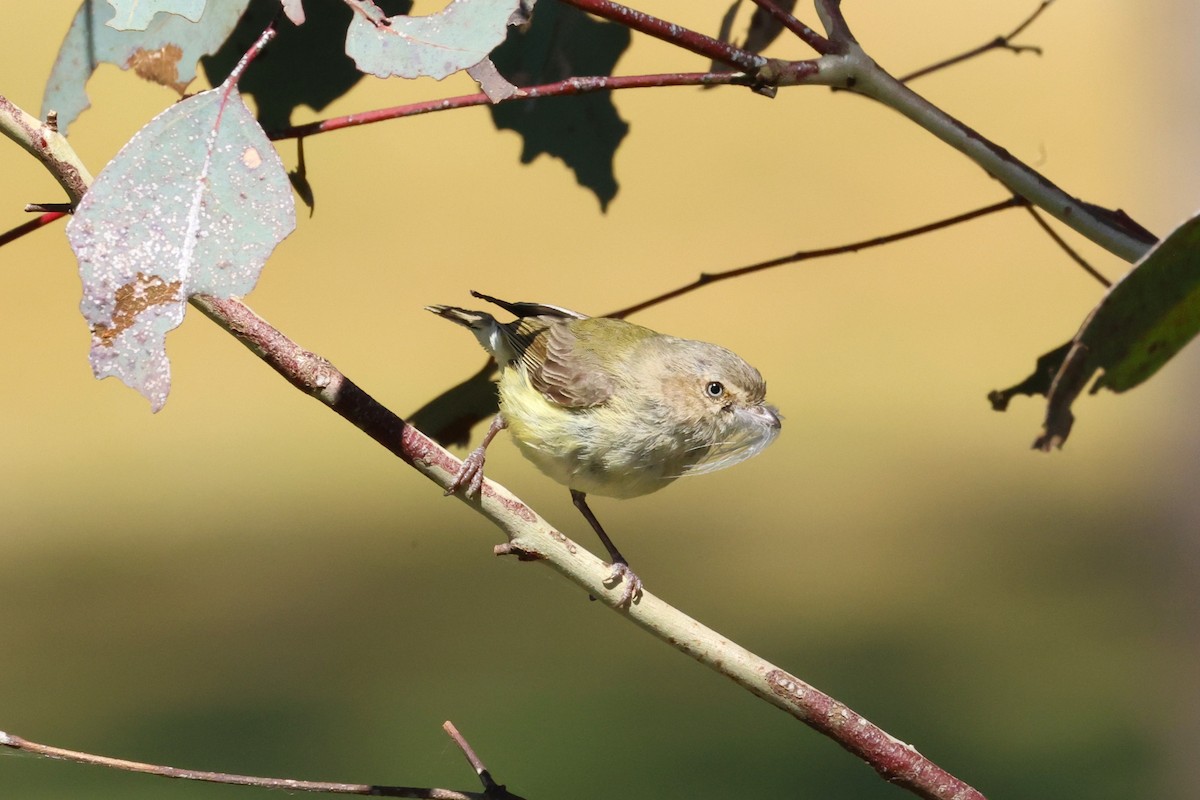
[[[508,31],[521,0],[452,0],[427,17],[355,14],[346,54],[359,70],[380,78],[427,76],[440,80],[482,61]]]

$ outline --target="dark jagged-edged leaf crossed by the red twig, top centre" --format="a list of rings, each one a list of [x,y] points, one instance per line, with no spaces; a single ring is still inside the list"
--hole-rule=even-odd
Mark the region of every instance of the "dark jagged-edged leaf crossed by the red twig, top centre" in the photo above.
[[[542,2],[528,30],[511,34],[492,53],[492,61],[518,86],[572,76],[610,76],[629,41],[624,25],[592,19],[557,2]],[[600,207],[608,207],[617,196],[613,158],[629,132],[610,92],[502,103],[491,112],[496,127],[521,134],[522,163],[544,152],[563,160],[580,185],[595,193]]]

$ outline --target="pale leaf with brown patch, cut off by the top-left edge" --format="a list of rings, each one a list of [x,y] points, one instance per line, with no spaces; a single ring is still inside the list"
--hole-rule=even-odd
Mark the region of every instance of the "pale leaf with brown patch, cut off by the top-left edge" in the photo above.
[[[104,0],[84,0],[54,60],[42,97],[42,118],[58,112],[59,131],[88,108],[88,78],[101,64],[133,67],[143,78],[182,92],[196,78],[196,62],[215,53],[229,37],[250,0],[209,4],[198,23],[158,14],[142,31],[119,31],[103,24],[112,8]]]

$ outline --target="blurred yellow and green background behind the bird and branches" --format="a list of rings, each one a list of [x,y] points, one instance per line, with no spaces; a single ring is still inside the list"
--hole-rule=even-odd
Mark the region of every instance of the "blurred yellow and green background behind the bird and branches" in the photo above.
[[[900,74],[1034,6],[846,11]],[[643,7],[706,31],[725,11]],[[6,6],[0,94],[37,112],[73,12]],[[1187,0],[1061,0],[1022,38],[1040,58],[994,53],[914,88],[1164,234],[1198,205],[1198,32]],[[702,68],[640,36],[618,65]],[[470,91],[367,79],[322,116]],[[89,94],[71,138],[94,172],[174,101],[113,67]],[[316,216],[301,211],[250,305],[407,414],[481,363],[425,303],[479,289],[602,313],[1003,198],[846,94],[616,102],[631,133],[607,215],[559,163],[520,166],[482,109],[310,139]],[[0,174],[0,228],[61,199],[7,143]],[[61,225],[0,249],[0,729],[197,769],[474,789],[449,718],[532,799],[899,796],[550,570],[494,558],[486,522],[198,314],[169,339],[158,415],[94,381]],[[1127,396],[1085,396],[1061,453],[1030,450],[1042,402],[985,401],[1099,296],[1010,211],[656,307],[636,321],[757,366],[784,433],[736,469],[593,507],[652,591],[990,798],[1195,796],[1200,350]],[[566,491],[504,437],[488,474],[595,549]],[[262,795],[0,753],[0,796]]]

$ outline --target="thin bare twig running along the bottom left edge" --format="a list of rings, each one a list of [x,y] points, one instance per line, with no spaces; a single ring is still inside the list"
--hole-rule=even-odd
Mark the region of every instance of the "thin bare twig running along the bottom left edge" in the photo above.
[[[457,733],[457,732],[456,732]],[[460,738],[455,740],[458,741]],[[53,745],[42,745],[29,739],[23,739],[16,734],[0,730],[0,746],[18,750],[43,758],[54,758],[76,764],[89,764],[92,766],[104,766],[121,770],[124,772],[139,772],[142,775],[154,775],[157,777],[178,778],[182,781],[200,781],[204,783],[223,783],[227,786],[253,786],[260,789],[284,789],[287,792],[312,792],[320,794],[359,794],[372,798],[416,798],[419,800],[522,800],[522,798],[510,794],[503,786],[494,782],[485,792],[457,792],[455,789],[438,789],[408,786],[376,786],[371,783],[335,783],[329,781],[298,781],[294,778],[259,777],[256,775],[232,775],[229,772],[214,772],[209,770],[188,770],[178,766],[166,766],[163,764],[149,764],[146,762],[131,762],[124,758],[110,758],[85,753],[78,750],[66,750]],[[486,786],[486,783],[485,783]]]

